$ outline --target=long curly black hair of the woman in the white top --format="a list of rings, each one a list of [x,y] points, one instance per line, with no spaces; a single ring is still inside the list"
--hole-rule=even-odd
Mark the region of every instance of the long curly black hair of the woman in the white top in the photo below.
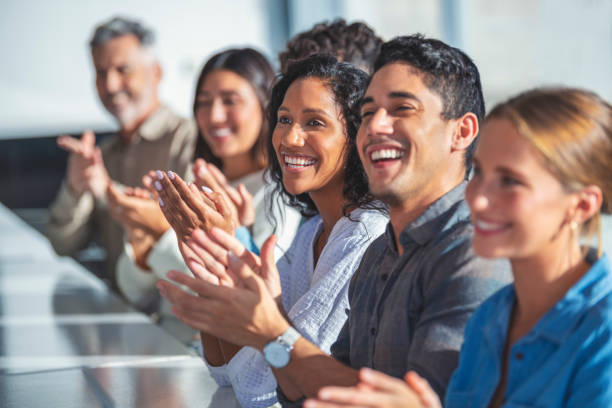
[[[295,62],[289,67],[287,73],[279,78],[272,89],[270,104],[268,105],[268,122],[270,124],[268,157],[270,164],[267,171],[275,184],[273,189],[274,196],[283,196],[304,217],[318,214],[317,207],[308,193],[293,195],[285,189],[281,165],[272,143],[272,134],[277,123],[278,109],[282,105],[285,94],[291,84],[302,78],[322,80],[333,94],[334,101],[342,111],[342,120],[345,125],[347,138],[345,147],[346,159],[343,167],[344,189],[342,196],[345,201],[343,214],[348,216],[350,210],[355,207],[384,211],[385,208],[382,204],[374,201],[374,196],[369,192],[368,179],[359,160],[356,145],[357,130],[361,122],[358,111],[359,103],[365,92],[368,75],[354,65],[339,62],[330,55],[313,55]],[[275,202],[279,201],[277,199],[270,200],[269,206],[272,207]],[[272,213],[272,211],[269,212]]]

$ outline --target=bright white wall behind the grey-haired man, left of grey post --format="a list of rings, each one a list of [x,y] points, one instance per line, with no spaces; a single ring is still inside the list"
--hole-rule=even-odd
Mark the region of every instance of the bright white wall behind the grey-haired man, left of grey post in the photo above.
[[[110,130],[99,103],[88,41],[116,14],[155,30],[164,68],[161,97],[190,115],[204,59],[219,48],[251,45],[269,56],[264,0],[2,0],[0,138]]]

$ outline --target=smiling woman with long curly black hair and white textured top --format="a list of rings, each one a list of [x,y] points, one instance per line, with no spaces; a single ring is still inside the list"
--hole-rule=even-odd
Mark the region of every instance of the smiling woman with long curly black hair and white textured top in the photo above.
[[[366,81],[367,75],[350,64],[329,56],[313,56],[294,63],[281,77],[269,106],[272,130],[268,156],[275,195],[288,198],[311,218],[276,263],[278,272],[265,275],[280,277],[283,316],[290,319],[299,332],[297,336],[304,336],[328,353],[347,319],[351,276],[388,221],[384,206],[368,193],[355,146],[359,127],[355,109]],[[205,240],[202,245],[206,247]],[[235,248],[232,251],[239,253]],[[263,252],[262,262],[274,268],[273,262],[265,261]],[[269,292],[262,295],[277,296]],[[181,293],[183,300],[188,296]],[[275,304],[276,299],[269,300]],[[263,316],[249,310],[249,318],[256,321],[248,326],[260,327],[263,323],[276,326],[276,330],[279,324],[286,324],[282,316],[272,318],[272,325],[259,321],[274,316],[270,312]],[[231,319],[240,325],[241,315],[223,310],[223,315],[210,316],[218,322]],[[206,330],[198,318],[177,316],[194,328]],[[262,341],[278,334],[266,333]],[[220,342],[226,349],[225,340]],[[277,400],[271,366],[278,368],[279,361],[286,364],[289,360],[288,355],[278,360],[269,353],[275,345],[282,352],[284,347],[279,348],[279,344],[269,343],[266,357],[252,347],[242,347],[235,354],[225,354],[222,365],[209,359],[206,350],[205,356],[215,379],[231,385],[243,406],[267,407]]]

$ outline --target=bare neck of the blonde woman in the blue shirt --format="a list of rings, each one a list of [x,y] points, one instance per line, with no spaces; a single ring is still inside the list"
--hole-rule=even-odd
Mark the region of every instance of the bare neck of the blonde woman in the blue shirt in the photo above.
[[[533,327],[588,271],[577,238],[569,250],[567,244],[560,245],[570,242],[568,233],[560,234],[535,255],[510,260],[519,324]]]

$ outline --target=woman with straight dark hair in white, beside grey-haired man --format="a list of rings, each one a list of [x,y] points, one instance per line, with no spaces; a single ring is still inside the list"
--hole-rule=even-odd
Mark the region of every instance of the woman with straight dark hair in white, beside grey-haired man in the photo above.
[[[265,108],[273,80],[270,63],[252,48],[231,48],[206,61],[196,83],[193,102],[198,127],[193,174],[200,187],[224,193],[226,202],[234,206],[237,215],[235,227],[247,227],[245,239],[252,238],[257,248],[271,234],[276,234],[279,237],[275,247],[278,259],[291,245],[301,217],[282,200],[271,200],[272,185],[264,180],[263,172],[268,163]],[[139,211],[139,207],[126,204],[122,213],[129,212],[130,208]],[[165,222],[161,212],[154,214],[152,219],[143,213],[140,221],[148,229],[155,230],[160,217]],[[183,216],[182,219],[191,218]],[[177,234],[188,236],[193,229],[202,226],[183,225],[175,231],[171,227],[176,227],[176,223],[165,222],[164,225],[163,232],[152,234],[146,248],[142,248],[142,240],[126,242],[117,263],[119,289],[139,309],[150,311],[153,307],[163,327],[189,340],[193,337],[192,331],[175,321],[167,302],[159,304],[155,283],[164,279],[170,270],[189,273],[179,251]],[[182,230],[189,232],[182,233]]]

